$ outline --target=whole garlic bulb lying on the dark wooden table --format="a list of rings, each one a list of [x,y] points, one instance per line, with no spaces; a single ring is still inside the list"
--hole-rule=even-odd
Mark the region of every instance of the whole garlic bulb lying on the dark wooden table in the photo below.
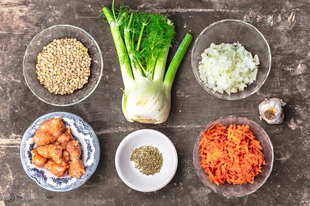
[[[286,105],[282,99],[279,98],[272,98],[272,99],[265,99],[262,103],[259,104],[259,119],[262,118],[268,124],[279,124],[283,121],[284,114],[282,112],[282,107]]]

